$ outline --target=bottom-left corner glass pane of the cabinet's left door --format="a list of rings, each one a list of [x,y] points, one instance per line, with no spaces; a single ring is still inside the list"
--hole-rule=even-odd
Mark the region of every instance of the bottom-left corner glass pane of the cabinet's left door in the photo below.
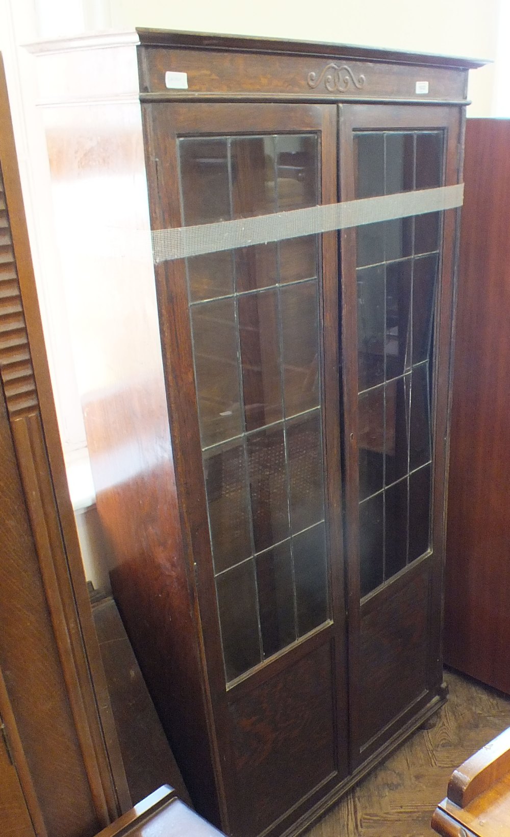
[[[234,680],[262,660],[253,562],[222,573],[216,587],[225,672],[227,680]]]

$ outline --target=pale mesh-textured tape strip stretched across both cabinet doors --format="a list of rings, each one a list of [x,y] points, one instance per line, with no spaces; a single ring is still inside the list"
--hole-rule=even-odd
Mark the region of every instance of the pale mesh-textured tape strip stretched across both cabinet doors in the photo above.
[[[201,223],[193,227],[151,231],[154,261],[188,259],[220,250],[268,244],[280,239],[328,233],[334,229],[359,227],[411,215],[441,212],[462,206],[464,184],[399,192],[378,198],[360,198],[324,206],[288,209],[285,212],[237,218],[233,221]]]

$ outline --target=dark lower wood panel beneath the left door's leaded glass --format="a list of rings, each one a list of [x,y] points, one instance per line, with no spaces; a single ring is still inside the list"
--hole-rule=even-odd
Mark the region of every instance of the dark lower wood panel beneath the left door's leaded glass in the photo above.
[[[232,697],[235,834],[260,834],[337,772],[331,650],[327,642],[240,699]]]

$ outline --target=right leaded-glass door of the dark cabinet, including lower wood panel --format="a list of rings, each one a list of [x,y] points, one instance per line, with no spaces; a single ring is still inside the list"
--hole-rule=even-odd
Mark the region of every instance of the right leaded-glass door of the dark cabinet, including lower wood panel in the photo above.
[[[344,105],[343,200],[457,182],[456,108]],[[352,763],[441,690],[456,210],[342,234]]]

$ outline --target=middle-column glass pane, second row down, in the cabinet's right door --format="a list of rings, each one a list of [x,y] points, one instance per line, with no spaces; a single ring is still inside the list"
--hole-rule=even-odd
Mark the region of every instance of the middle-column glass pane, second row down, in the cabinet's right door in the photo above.
[[[386,379],[411,367],[412,261],[386,267]]]

